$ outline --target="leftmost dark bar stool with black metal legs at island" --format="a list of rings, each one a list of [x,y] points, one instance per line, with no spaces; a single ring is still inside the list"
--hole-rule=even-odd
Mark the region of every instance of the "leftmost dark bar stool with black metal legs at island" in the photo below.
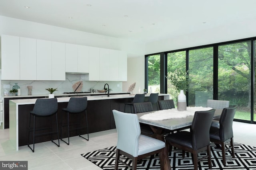
[[[58,144],[53,141],[52,137],[52,142],[55,143],[58,147],[60,147],[60,141],[59,141],[59,131],[58,131],[58,118],[57,118],[57,111],[58,111],[58,102],[57,98],[51,98],[51,99],[37,99],[35,106],[32,111],[30,111],[30,117],[29,117],[29,127],[28,127],[28,147],[34,152],[35,149],[35,137],[39,135],[46,135],[46,134],[53,134],[57,133],[58,134]],[[52,127],[44,127],[44,128],[36,128],[36,117],[50,117],[52,115],[56,115],[56,127],[57,131],[51,131],[51,132],[44,132],[44,133],[38,133],[35,134],[35,131],[43,131],[46,129],[51,129]],[[34,127],[33,130],[31,130],[31,116],[34,117]],[[52,119],[50,119],[50,122],[52,122]],[[52,125],[52,123],[50,123]],[[29,139],[30,139],[30,132],[33,131],[33,149],[29,145]]]

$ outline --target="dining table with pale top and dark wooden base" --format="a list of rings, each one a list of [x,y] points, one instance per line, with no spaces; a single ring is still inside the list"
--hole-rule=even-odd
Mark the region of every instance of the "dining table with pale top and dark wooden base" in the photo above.
[[[187,107],[189,108],[189,107]],[[187,109],[186,112],[190,112],[190,115],[186,116],[186,117],[178,117],[178,118],[169,118],[169,119],[162,119],[162,120],[155,120],[154,118],[152,119],[143,119],[144,115],[150,115],[151,113],[153,114],[157,114],[157,113],[161,113],[162,110],[158,110],[158,111],[149,111],[149,112],[142,112],[142,113],[136,113],[136,115],[138,116],[139,122],[140,123],[144,123],[150,126],[150,128],[153,131],[153,136],[156,139],[159,139],[161,141],[164,141],[164,133],[167,130],[170,131],[176,131],[179,129],[184,129],[186,127],[188,127],[188,129],[190,128],[190,126],[192,125],[192,121],[194,118],[194,110],[196,110],[196,107],[193,107],[193,109]],[[202,108],[198,108],[198,109],[202,109]],[[207,108],[208,110],[211,108]],[[205,110],[207,110],[205,109]],[[172,114],[172,112],[177,112],[177,108],[174,109],[167,109],[165,110],[165,112],[170,112],[170,114]],[[180,111],[180,113],[182,113],[183,111]],[[213,119],[218,119],[220,117],[222,113],[222,109],[215,109],[214,112],[214,117]],[[145,117],[145,116],[144,116]],[[150,116],[149,116],[150,117]],[[171,170],[171,165],[170,165],[170,160],[169,160],[169,156],[168,156],[168,150],[165,148],[164,152],[162,152],[160,155],[160,162],[163,162],[164,166],[161,166],[161,170]],[[163,167],[163,168],[162,168]]]

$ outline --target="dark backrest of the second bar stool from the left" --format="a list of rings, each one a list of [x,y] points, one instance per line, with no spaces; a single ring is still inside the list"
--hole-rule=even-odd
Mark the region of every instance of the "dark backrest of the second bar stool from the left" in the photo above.
[[[71,113],[80,113],[87,108],[87,97],[70,98],[66,110]]]

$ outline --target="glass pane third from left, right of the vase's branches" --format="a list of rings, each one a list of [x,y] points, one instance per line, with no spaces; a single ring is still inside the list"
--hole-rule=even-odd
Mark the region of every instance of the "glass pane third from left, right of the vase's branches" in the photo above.
[[[188,106],[206,107],[213,98],[213,47],[188,51]]]

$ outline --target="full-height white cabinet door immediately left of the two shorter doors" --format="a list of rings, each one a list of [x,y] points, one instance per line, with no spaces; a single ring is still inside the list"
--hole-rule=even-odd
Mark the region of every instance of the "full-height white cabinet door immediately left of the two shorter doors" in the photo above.
[[[65,43],[52,42],[52,80],[66,80]]]

